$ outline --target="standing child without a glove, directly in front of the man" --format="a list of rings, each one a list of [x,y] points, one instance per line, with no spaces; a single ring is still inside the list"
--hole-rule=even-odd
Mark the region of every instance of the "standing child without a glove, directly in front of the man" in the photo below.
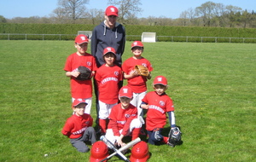
[[[122,69],[113,62],[116,59],[115,49],[107,47],[103,50],[105,64],[96,71],[95,79],[98,86],[99,126],[101,135],[106,134],[108,116],[114,105],[119,101],[119,82],[122,80]]]

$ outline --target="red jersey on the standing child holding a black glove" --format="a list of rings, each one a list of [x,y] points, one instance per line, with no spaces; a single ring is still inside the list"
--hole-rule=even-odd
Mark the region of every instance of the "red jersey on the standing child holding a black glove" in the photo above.
[[[97,69],[94,56],[88,53],[85,53],[85,55],[73,53],[67,57],[64,70],[67,72],[77,71],[79,66],[88,67],[91,71]],[[92,96],[91,79],[81,81],[71,77],[70,87],[73,98],[90,98]]]

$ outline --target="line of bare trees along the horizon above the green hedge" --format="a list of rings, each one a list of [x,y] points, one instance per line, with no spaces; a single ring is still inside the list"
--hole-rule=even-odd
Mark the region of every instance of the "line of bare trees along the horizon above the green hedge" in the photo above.
[[[0,15],[0,23],[51,23],[51,24],[92,24],[104,20],[104,10],[86,9],[89,0],[58,0],[58,7],[45,17],[15,17],[6,19]],[[165,16],[138,18],[143,12],[140,0],[108,0],[109,5],[119,8],[119,22],[124,25],[142,26],[214,26],[256,28],[256,13],[242,10],[223,3],[202,3],[195,9],[183,11],[179,18]]]

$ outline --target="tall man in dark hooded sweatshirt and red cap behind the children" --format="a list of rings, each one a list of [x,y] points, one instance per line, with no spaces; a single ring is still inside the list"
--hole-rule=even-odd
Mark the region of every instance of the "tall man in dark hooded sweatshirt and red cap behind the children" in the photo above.
[[[112,47],[116,51],[116,59],[114,64],[121,67],[121,56],[125,51],[125,27],[117,22],[118,9],[114,6],[108,6],[105,11],[105,20],[98,26],[96,26],[92,32],[90,38],[90,50],[91,55],[96,58],[97,67],[101,67],[105,64],[102,54],[103,50],[107,47]],[[119,82],[119,89],[122,87],[123,82]],[[96,94],[96,111],[98,123],[98,90],[96,80],[94,80],[94,89]]]

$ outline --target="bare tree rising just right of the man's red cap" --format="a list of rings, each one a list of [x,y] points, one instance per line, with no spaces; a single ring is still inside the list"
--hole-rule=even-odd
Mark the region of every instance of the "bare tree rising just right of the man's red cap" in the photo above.
[[[140,14],[143,11],[138,7],[142,5],[140,0],[108,0],[108,4],[118,7],[119,21],[122,23],[128,23],[129,18],[134,18],[136,14]]]

